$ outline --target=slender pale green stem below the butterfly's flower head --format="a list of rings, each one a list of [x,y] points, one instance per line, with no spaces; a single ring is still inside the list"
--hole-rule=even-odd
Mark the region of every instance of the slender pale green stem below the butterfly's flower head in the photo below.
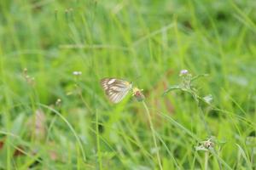
[[[143,101],[143,106],[144,106],[144,108],[146,110],[146,113],[147,113],[147,116],[148,116],[148,122],[149,122],[149,126],[150,126],[150,129],[151,129],[152,137],[153,137],[153,140],[154,140],[154,148],[156,149],[157,161],[158,161],[160,170],[162,170],[163,167],[162,167],[161,161],[160,161],[160,154],[159,154],[159,150],[158,150],[158,146],[157,146],[157,142],[156,142],[156,138],[155,138],[155,134],[154,134],[154,126],[153,126],[153,123],[152,123],[152,118],[150,116],[148,106],[146,105],[146,103],[144,101]]]

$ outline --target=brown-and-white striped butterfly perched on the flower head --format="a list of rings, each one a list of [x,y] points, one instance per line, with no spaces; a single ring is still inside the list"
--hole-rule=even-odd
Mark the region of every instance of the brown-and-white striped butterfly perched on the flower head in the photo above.
[[[115,104],[124,99],[132,88],[131,82],[117,78],[103,78],[101,84],[108,99]]]

